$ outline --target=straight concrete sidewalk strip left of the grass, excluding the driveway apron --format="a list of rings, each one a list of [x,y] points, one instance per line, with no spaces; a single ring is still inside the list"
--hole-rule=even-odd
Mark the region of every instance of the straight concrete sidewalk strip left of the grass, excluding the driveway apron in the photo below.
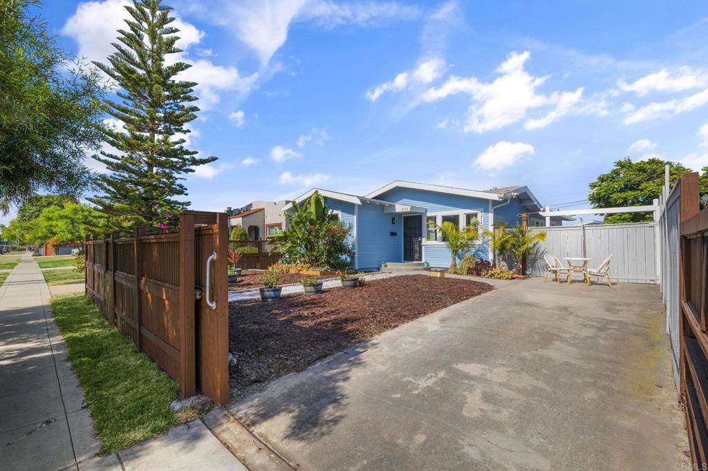
[[[40,267],[23,255],[0,287],[0,469],[78,469],[101,449]]]

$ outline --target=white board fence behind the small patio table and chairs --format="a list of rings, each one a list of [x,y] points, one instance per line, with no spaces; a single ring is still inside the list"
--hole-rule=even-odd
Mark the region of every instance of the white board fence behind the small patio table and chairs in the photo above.
[[[532,275],[546,274],[543,255],[552,253],[564,257],[588,257],[588,267],[596,268],[612,255],[610,279],[623,283],[656,283],[656,222],[626,224],[590,224],[585,226],[554,226],[539,228],[546,231],[546,240],[537,245],[529,257]],[[573,275],[578,279],[580,274]]]

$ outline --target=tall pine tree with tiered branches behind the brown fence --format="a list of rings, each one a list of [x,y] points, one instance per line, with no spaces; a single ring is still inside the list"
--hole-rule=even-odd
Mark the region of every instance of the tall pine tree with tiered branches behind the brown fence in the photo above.
[[[169,54],[182,52],[175,46],[178,29],[170,26],[171,7],[160,0],[133,0],[125,7],[130,19],[127,30],[118,30],[116,52],[110,65],[94,62],[120,87],[120,103],[104,100],[103,110],[124,123],[125,132],[107,127],[103,140],[121,155],[101,151],[93,156],[110,173],[100,175],[103,194],[91,202],[110,216],[116,228],[154,228],[169,216],[187,208],[190,202],[175,197],[187,194],[181,183],[193,167],[217,160],[198,158],[185,149],[177,134],[186,134],[185,124],[195,119],[198,107],[194,82],[176,76],[190,67],[184,62],[166,61]]]

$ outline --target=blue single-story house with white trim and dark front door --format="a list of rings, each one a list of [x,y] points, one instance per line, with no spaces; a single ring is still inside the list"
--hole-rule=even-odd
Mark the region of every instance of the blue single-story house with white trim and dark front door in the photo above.
[[[295,201],[317,191],[340,221],[350,223],[355,239],[355,269],[376,269],[386,262],[428,262],[450,267],[451,253],[436,227],[445,221],[492,228],[495,223],[514,226],[519,214],[530,213],[530,226],[560,226],[562,217],[544,221],[543,208],[525,186],[476,191],[396,180],[365,196],[313,188]],[[291,205],[283,207],[284,211]],[[535,214],[536,213],[536,214]],[[568,218],[565,218],[568,219]],[[489,260],[479,245],[474,255]]]

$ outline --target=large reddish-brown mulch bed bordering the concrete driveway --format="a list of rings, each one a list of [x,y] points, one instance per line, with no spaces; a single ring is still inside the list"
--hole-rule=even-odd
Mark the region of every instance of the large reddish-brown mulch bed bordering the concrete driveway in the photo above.
[[[232,388],[302,371],[324,356],[493,289],[480,281],[412,275],[273,303],[231,303]]]

